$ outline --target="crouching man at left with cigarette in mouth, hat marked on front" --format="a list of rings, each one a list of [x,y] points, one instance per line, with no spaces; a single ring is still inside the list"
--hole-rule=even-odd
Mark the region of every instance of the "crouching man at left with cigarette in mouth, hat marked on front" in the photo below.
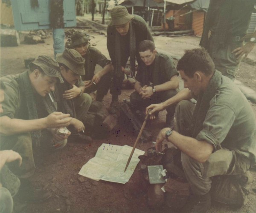
[[[67,144],[70,132],[58,137],[57,131],[70,125],[70,114],[56,112],[55,103],[49,97],[58,80],[63,82],[59,71],[55,60],[39,56],[29,64],[28,71],[0,79],[6,86],[5,99],[1,103],[4,111],[0,115],[1,149],[12,149],[23,158],[21,166],[13,168],[19,177],[29,178],[35,171],[32,143],[42,143],[51,149]],[[51,196],[44,190],[38,194],[32,194],[33,201]]]

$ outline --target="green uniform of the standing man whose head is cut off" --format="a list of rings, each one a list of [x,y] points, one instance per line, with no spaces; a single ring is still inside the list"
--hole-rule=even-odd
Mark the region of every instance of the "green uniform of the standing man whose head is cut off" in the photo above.
[[[209,52],[215,68],[231,80],[241,61],[231,52],[243,45],[255,4],[256,0],[210,1],[200,45]]]

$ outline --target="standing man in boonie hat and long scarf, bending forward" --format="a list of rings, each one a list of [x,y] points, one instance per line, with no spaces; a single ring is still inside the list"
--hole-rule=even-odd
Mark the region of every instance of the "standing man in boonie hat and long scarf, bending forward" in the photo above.
[[[112,102],[109,112],[114,114],[121,94],[125,66],[130,57],[130,69],[135,74],[135,60],[143,64],[138,46],[143,40],[153,40],[145,20],[138,15],[131,15],[124,6],[115,6],[111,10],[111,22],[107,29],[107,47],[114,67],[113,84],[110,90]]]

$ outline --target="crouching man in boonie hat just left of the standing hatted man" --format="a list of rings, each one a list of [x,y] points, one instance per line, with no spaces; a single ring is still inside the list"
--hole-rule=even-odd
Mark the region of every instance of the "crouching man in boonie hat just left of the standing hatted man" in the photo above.
[[[101,102],[110,88],[113,66],[111,61],[98,49],[87,47],[89,40],[86,34],[76,31],[71,37],[69,47],[78,51],[85,59],[84,68],[86,72],[81,76],[85,86],[84,92],[90,94],[97,90],[96,101]],[[100,65],[102,70],[94,74],[96,65]]]

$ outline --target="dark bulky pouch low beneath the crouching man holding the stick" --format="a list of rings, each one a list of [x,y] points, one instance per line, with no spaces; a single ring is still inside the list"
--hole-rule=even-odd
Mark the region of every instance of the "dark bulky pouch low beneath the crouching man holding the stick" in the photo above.
[[[214,201],[237,208],[247,203],[249,195],[249,190],[241,182],[241,176],[215,176],[212,178],[211,190]]]

